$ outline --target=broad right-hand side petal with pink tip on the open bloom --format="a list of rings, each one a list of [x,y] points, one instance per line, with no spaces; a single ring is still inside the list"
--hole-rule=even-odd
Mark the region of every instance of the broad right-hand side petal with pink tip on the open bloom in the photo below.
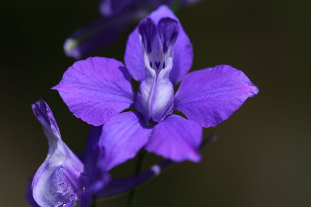
[[[259,92],[248,77],[230,65],[189,73],[175,95],[174,109],[203,127],[213,127]]]

